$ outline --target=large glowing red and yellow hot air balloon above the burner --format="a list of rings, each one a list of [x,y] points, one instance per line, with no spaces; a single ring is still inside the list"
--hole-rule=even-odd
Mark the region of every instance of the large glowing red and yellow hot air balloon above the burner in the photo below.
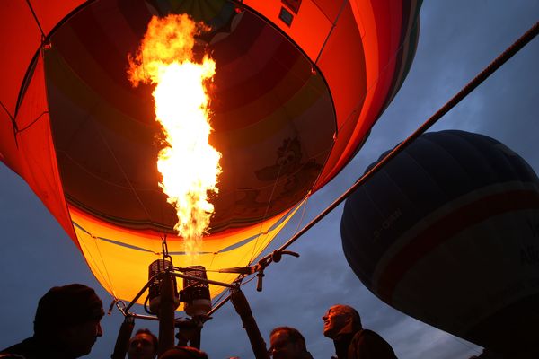
[[[211,28],[198,45],[216,61],[210,142],[223,173],[196,264],[216,270],[252,263],[358,151],[411,66],[420,1],[13,0],[0,9],[0,158],[103,287],[131,299],[162,258],[164,235],[174,264],[186,265],[158,187],[153,88],[133,88],[126,74],[152,16],[188,13]]]

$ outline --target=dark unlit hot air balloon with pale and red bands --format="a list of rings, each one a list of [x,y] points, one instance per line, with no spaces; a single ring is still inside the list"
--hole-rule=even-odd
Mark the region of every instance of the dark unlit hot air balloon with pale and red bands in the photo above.
[[[493,351],[536,353],[539,179],[506,145],[424,134],[347,199],[340,228],[384,302]]]

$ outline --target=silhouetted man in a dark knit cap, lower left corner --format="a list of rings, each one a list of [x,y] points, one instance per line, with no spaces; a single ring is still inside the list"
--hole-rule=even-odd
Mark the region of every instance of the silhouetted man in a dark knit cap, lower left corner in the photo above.
[[[0,359],[74,359],[87,355],[102,337],[102,301],[86,285],[52,287],[41,297],[34,335],[0,351]]]

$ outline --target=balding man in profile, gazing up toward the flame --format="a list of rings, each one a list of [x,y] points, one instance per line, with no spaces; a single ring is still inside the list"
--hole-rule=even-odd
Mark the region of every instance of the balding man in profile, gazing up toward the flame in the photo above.
[[[383,337],[364,329],[358,311],[334,305],[322,317],[323,335],[333,339],[338,359],[396,359]]]

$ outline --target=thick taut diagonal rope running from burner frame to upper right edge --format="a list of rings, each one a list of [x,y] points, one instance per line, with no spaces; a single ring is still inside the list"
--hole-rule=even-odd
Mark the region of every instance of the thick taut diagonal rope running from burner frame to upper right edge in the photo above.
[[[437,112],[432,115],[427,121],[425,121],[418,129],[415,130],[408,138],[403,140],[400,144],[397,144],[393,150],[387,153],[382,160],[376,162],[372,169],[367,171],[363,176],[361,176],[349,189],[347,189],[340,197],[335,199],[330,206],[327,206],[319,215],[316,215],[314,219],[305,225],[299,232],[296,232],[285,244],[283,244],[278,251],[286,250],[292,243],[294,243],[299,237],[301,237],[305,232],[310,230],[314,224],[320,222],[325,215],[328,215],[335,207],[339,206],[349,195],[351,195],[359,186],[363,185],[367,180],[369,180],[377,171],[379,171],[387,162],[389,162],[393,157],[400,153],[408,144],[411,144],[417,137],[423,134],[425,131],[432,127],[438,119],[442,118],[450,109],[453,109],[456,104],[462,101],[470,92],[479,86],[483,81],[485,81],[490,74],[493,74],[500,66],[505,64],[509,58],[513,57],[517,52],[526,46],[532,39],[535,38],[539,32],[539,22],[535,22],[535,25],[532,26],[528,31],[526,31],[520,38],[518,38],[511,46],[506,48],[499,57],[496,57],[489,66],[485,67],[480,74],[477,74],[472,81],[467,83],[461,91],[457,92],[453,98],[446,102],[446,104],[437,110]],[[265,258],[271,258],[271,254]]]

